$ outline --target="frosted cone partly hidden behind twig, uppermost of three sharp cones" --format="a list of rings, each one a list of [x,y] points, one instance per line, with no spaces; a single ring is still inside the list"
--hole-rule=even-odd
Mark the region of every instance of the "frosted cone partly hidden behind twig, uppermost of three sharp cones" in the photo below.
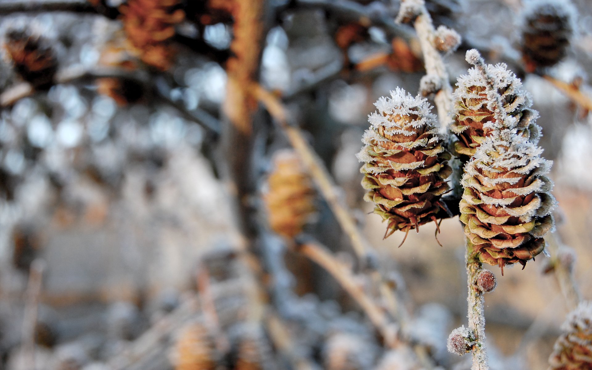
[[[522,89],[520,79],[506,67],[504,63],[487,65],[507,115],[516,119],[515,126],[506,128],[516,128],[520,135],[536,144],[540,137],[540,127],[535,123],[538,112],[529,109],[532,105],[530,94]],[[466,162],[475,155],[475,150],[485,137],[493,132],[496,120],[488,104],[487,82],[477,67],[469,69],[468,75],[460,76],[457,85],[458,89],[453,95],[455,118],[451,131],[458,137],[454,143],[455,155]]]

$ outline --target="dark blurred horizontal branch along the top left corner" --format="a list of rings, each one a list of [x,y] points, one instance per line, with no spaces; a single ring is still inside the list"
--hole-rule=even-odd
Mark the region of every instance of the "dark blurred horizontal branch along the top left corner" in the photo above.
[[[2,0],[0,1],[0,15],[15,12],[96,12],[91,3],[86,0]]]

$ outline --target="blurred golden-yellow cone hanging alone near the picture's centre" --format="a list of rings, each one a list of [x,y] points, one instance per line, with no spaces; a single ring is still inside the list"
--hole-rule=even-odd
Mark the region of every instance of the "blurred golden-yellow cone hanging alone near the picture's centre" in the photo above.
[[[313,215],[314,190],[298,156],[285,150],[275,154],[274,169],[264,196],[269,226],[291,238],[299,234]]]

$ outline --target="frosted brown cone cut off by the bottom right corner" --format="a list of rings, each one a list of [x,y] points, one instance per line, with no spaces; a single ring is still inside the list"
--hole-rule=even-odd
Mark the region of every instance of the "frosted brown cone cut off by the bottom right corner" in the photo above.
[[[561,326],[549,357],[551,370],[592,370],[592,301],[580,303]]]

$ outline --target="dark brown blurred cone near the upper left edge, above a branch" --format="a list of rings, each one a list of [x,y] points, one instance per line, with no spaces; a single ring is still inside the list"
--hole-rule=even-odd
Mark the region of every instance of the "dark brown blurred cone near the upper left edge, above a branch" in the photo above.
[[[11,30],[4,49],[18,75],[36,89],[49,89],[57,72],[57,61],[48,40],[27,30]]]

